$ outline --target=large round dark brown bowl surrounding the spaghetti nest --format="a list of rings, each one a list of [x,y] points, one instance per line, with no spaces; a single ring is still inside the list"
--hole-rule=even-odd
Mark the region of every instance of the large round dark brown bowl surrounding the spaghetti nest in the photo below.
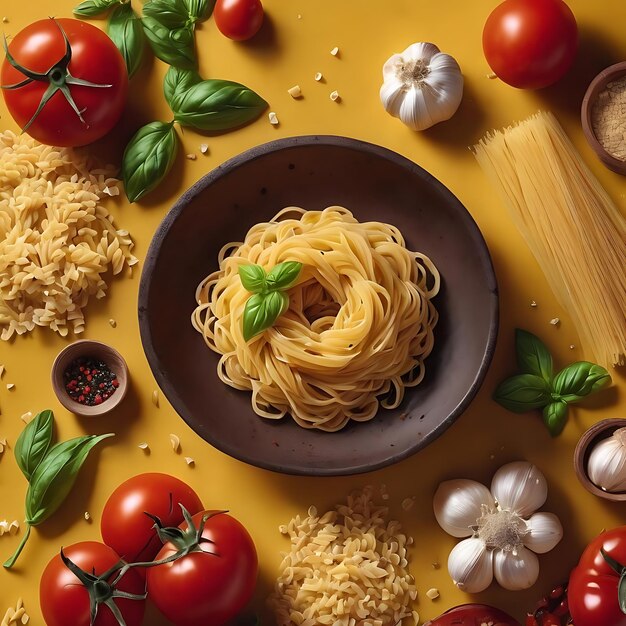
[[[426,377],[396,410],[337,433],[257,416],[250,394],[217,377],[218,357],[192,328],[198,283],[219,249],[281,208],[349,208],[394,224],[441,272],[440,313]],[[158,228],[139,290],[141,338],[161,389],[182,418],[226,454],[279,472],[354,474],[428,445],[467,408],[491,361],[496,278],[485,241],[439,181],[385,148],[334,136],[292,137],[249,150],[189,189]]]

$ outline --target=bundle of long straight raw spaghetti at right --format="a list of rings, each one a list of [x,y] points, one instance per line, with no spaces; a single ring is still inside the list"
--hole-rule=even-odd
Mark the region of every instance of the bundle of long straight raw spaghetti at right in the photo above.
[[[540,112],[474,146],[586,351],[626,360],[626,219],[563,128]]]

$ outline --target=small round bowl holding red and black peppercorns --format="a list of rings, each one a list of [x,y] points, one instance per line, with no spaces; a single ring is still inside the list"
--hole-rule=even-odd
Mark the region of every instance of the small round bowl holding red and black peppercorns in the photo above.
[[[52,365],[52,387],[59,402],[76,415],[102,415],[126,395],[128,367],[122,355],[99,341],[70,344]]]

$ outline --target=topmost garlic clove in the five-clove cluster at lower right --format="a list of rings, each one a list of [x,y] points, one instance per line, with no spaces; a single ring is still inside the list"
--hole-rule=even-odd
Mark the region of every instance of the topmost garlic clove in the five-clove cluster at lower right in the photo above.
[[[528,517],[546,501],[548,484],[535,465],[515,461],[503,465],[495,473],[491,493],[501,508]]]

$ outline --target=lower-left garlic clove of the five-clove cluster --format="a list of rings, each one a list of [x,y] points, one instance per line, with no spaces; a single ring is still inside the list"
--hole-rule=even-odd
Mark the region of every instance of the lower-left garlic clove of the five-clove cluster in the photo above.
[[[464,539],[450,552],[448,573],[462,591],[480,593],[493,580],[492,553],[480,539]]]

